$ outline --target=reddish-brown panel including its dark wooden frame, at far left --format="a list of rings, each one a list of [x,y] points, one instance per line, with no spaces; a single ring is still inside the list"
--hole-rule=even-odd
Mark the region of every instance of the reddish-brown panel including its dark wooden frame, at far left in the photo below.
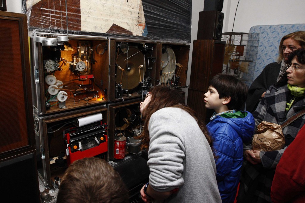
[[[0,153],[34,146],[27,16],[0,12]]]

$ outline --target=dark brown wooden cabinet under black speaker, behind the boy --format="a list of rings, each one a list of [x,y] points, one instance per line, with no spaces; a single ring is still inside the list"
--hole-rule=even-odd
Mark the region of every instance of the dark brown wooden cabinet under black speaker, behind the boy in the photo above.
[[[187,103],[205,121],[209,120],[213,112],[206,111],[204,94],[209,88],[211,78],[222,72],[224,47],[224,41],[194,40]]]

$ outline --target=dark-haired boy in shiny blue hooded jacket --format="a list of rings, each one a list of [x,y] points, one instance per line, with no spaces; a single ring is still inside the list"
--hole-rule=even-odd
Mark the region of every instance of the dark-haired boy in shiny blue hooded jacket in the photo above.
[[[250,112],[239,108],[246,100],[247,86],[239,78],[217,74],[204,94],[207,109],[215,113],[207,124],[216,153],[216,179],[222,202],[234,202],[243,161],[243,142],[248,143],[255,122]]]

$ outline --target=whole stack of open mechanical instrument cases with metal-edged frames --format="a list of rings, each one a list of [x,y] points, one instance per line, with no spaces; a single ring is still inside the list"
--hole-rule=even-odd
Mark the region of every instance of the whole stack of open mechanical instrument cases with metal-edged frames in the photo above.
[[[124,157],[116,157],[117,136],[126,137],[128,142],[141,134],[144,121],[139,106],[151,87],[161,84],[179,89],[188,87],[189,45],[70,35],[64,45],[50,47],[35,39],[45,36],[47,33],[35,33],[30,40],[36,159],[42,200],[56,201],[57,182],[66,167],[76,159],[90,156],[112,164],[123,177],[130,197],[137,199],[142,185],[148,181],[148,155],[133,148],[136,144],[129,145],[129,142],[125,145]],[[164,63],[167,64],[164,66]],[[161,71],[167,72],[164,80],[165,74]],[[55,87],[51,87],[50,79],[56,80]],[[62,84],[57,83],[58,80]],[[90,84],[84,84],[84,81]],[[88,98],[85,88],[91,91],[92,85],[103,99],[96,95],[92,97],[96,100],[84,99]],[[62,93],[65,101],[58,97],[57,90],[66,91]],[[54,96],[52,91],[56,92]],[[84,94],[81,91],[85,91]],[[84,96],[76,101],[78,93]],[[99,113],[102,123],[107,124],[106,142],[80,151],[77,142],[69,139],[70,132],[78,132],[77,119]],[[93,125],[100,127],[102,123],[95,121]],[[72,142],[76,143],[75,151]]]

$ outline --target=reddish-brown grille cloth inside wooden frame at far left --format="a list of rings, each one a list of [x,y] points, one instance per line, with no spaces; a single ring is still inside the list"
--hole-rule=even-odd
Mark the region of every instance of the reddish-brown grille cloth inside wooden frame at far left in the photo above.
[[[0,19],[0,153],[29,144],[19,23]]]

